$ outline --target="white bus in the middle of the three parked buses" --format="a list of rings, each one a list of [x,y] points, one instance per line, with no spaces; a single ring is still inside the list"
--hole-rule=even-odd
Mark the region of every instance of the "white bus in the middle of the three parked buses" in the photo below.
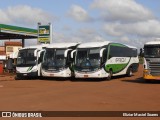
[[[44,77],[73,76],[72,52],[78,43],[54,43],[45,48],[41,73]]]

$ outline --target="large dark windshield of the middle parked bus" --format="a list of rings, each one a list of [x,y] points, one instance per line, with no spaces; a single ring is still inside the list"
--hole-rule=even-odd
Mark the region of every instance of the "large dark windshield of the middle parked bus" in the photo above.
[[[46,70],[55,70],[65,67],[66,59],[64,57],[64,52],[65,49],[46,48],[42,68]]]

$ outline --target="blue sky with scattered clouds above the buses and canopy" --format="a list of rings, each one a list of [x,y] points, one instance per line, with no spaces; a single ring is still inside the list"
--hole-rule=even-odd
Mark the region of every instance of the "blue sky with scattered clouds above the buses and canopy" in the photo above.
[[[52,23],[52,43],[109,40],[141,48],[145,42],[160,38],[160,0],[0,2],[0,24],[36,29],[38,22]]]

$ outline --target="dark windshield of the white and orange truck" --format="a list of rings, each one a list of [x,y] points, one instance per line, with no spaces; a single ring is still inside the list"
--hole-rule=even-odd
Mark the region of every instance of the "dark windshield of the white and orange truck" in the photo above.
[[[144,46],[144,57],[160,57],[160,46]]]

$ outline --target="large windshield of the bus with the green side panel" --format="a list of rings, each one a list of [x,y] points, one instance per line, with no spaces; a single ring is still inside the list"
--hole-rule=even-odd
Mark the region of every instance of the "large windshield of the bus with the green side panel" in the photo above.
[[[79,69],[95,69],[100,67],[100,48],[78,49],[75,66]]]

